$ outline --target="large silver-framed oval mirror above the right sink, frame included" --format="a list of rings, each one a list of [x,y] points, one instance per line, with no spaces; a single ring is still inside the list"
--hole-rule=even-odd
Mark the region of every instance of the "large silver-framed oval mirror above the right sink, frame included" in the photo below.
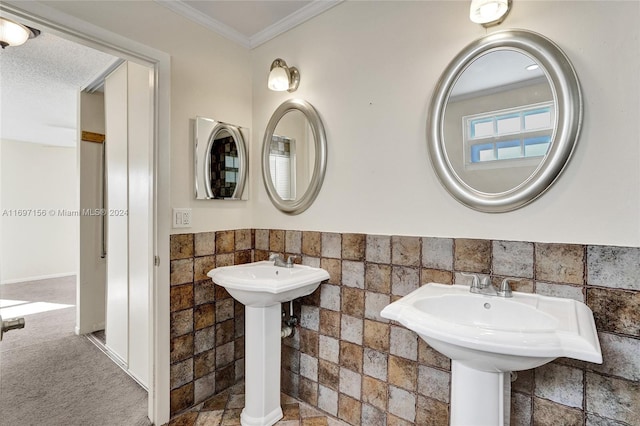
[[[564,53],[529,31],[493,33],[460,52],[436,86],[431,162],[468,207],[515,210],[557,179],[581,122],[580,86]]]

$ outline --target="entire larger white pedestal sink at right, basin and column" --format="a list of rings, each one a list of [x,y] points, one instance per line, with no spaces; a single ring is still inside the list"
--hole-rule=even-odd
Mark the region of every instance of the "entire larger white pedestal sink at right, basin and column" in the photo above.
[[[602,363],[593,313],[572,299],[485,296],[430,283],[381,315],[451,358],[451,425],[508,425],[511,371],[558,357]]]

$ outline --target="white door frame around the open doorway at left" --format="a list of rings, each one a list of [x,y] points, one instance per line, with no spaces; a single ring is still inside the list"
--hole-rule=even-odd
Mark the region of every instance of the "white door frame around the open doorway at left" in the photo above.
[[[3,16],[39,28],[67,40],[146,65],[153,69],[153,253],[155,265],[149,288],[149,365],[148,415],[154,424],[170,419],[169,372],[169,212],[171,187],[171,69],[166,52],[107,31],[96,25],[38,2],[15,0],[0,3]],[[80,141],[80,130],[78,131]]]

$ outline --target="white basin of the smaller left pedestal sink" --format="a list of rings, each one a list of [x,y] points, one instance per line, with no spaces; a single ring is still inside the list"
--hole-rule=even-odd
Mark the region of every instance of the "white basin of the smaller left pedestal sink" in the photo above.
[[[266,260],[215,268],[207,275],[226,288],[238,302],[253,307],[271,306],[306,296],[329,279],[329,273],[324,269],[305,265],[284,268]]]

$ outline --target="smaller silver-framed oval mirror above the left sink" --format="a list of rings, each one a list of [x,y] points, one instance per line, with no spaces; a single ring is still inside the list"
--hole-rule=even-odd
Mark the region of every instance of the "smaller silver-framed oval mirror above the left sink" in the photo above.
[[[327,163],[322,120],[301,99],[280,105],[262,142],[262,176],[273,204],[289,214],[309,208],[320,192]]]

